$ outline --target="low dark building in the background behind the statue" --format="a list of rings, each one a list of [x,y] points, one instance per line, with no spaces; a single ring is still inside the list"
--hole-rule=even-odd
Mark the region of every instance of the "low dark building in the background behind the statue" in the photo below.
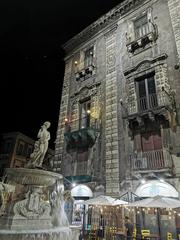
[[[7,167],[24,167],[34,149],[32,138],[20,133],[4,133],[0,139],[0,176]],[[48,149],[45,164],[51,168],[50,161],[54,157],[54,150]]]

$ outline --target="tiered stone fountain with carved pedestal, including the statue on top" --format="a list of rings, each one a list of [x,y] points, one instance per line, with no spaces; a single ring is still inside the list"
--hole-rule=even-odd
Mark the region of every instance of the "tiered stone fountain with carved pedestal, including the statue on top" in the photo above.
[[[1,240],[79,239],[79,228],[69,226],[64,211],[63,176],[42,168],[49,126],[45,122],[41,127],[25,168],[6,169],[6,184],[14,186],[14,192],[1,206]]]

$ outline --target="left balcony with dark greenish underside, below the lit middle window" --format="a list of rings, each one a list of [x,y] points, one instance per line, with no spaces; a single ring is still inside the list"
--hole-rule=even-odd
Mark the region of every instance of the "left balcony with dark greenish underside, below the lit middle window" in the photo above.
[[[66,123],[64,134],[67,152],[86,151],[95,144],[99,132],[97,119],[85,117]]]

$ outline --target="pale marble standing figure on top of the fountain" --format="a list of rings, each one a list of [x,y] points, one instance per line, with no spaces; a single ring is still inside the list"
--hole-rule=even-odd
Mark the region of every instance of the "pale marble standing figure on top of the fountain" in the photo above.
[[[47,130],[50,127],[50,122],[45,122],[38,132],[38,140],[34,144],[34,151],[30,155],[30,160],[27,167],[42,167],[45,154],[48,150],[50,133]]]

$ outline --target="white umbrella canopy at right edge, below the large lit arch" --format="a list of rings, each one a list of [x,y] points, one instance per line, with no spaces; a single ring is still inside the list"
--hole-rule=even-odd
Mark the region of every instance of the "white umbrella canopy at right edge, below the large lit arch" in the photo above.
[[[140,201],[130,203],[132,207],[152,207],[152,208],[179,208],[180,200],[163,196],[146,198]]]

